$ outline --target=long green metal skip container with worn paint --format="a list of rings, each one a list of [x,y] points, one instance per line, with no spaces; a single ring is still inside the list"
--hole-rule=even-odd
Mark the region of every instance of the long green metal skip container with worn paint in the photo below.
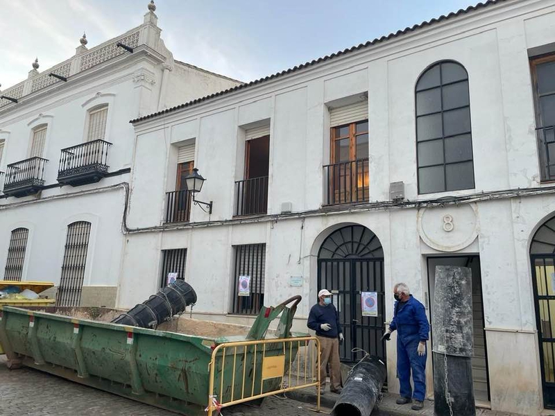
[[[292,300],[293,306],[287,307]],[[214,348],[241,340],[305,335],[290,332],[299,301],[295,297],[262,308],[252,327],[181,316],[156,330],[110,323],[121,313],[115,309],[0,306],[0,343],[11,369],[25,365],[183,415],[200,416],[210,400]],[[278,329],[268,331],[271,320],[280,314]],[[262,380],[260,371],[254,372],[253,379],[253,367],[262,365],[260,349],[239,348],[243,349],[223,349],[216,356],[216,369],[225,361],[223,374],[216,370],[214,376],[214,385],[223,386],[222,395],[233,394],[237,399],[237,392],[245,390],[249,394],[250,390],[277,390],[282,379]],[[280,343],[267,343],[264,349],[266,357],[284,354]],[[296,348],[285,354],[286,371],[296,354]],[[232,361],[234,367],[229,364]]]

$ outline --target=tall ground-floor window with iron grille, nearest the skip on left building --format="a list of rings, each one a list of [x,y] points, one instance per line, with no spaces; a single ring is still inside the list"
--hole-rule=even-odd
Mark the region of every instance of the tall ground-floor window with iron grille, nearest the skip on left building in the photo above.
[[[56,294],[57,306],[80,305],[90,234],[91,223],[87,221],[78,221],[67,226],[62,278]]]

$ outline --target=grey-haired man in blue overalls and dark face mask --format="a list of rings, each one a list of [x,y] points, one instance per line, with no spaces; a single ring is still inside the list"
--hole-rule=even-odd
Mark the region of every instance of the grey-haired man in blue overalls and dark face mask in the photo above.
[[[397,330],[397,376],[401,393],[397,404],[411,403],[414,398],[411,408],[420,410],[426,395],[426,341],[429,323],[424,305],[412,297],[409,286],[404,283],[396,284],[393,297],[397,301],[393,320],[382,336],[382,341],[389,340],[391,333]],[[411,370],[414,394],[411,388]]]

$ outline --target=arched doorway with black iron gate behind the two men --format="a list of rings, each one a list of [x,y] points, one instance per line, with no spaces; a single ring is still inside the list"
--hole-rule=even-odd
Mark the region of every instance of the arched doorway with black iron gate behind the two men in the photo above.
[[[377,236],[362,225],[336,229],[318,251],[318,291],[333,293],[345,341],[340,347],[341,361],[354,362],[364,356],[352,352],[364,349],[386,358],[384,343],[384,250]],[[377,293],[377,316],[363,316],[361,292]]]

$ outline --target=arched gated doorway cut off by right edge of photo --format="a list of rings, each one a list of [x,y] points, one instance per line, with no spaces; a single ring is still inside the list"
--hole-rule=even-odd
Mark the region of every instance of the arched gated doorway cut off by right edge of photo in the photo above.
[[[555,217],[533,235],[530,245],[543,401],[555,408]]]

